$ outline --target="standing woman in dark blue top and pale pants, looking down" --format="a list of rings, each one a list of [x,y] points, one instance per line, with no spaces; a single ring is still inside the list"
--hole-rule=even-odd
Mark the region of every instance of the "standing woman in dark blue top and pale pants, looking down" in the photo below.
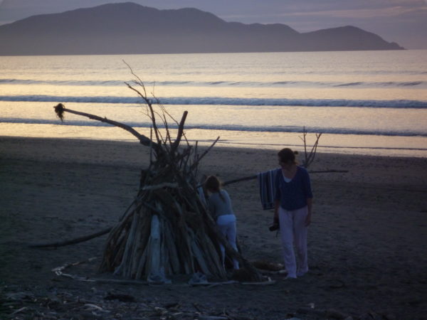
[[[287,278],[301,277],[308,272],[307,227],[311,223],[312,191],[310,176],[297,166],[296,152],[289,148],[278,152],[281,171],[275,180],[274,220],[280,223],[283,258]],[[295,259],[294,244],[297,250]]]

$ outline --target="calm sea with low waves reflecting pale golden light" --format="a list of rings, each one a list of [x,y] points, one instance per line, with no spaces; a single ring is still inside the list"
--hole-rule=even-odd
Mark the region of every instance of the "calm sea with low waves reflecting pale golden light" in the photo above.
[[[427,156],[427,50],[0,57],[0,136],[132,141],[122,129],[53,105],[114,119],[149,134],[135,92],[144,82],[186,134],[221,146]]]

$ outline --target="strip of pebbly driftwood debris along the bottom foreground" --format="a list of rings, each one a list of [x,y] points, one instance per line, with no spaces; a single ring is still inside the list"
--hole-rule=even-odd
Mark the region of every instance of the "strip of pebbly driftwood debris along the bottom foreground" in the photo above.
[[[236,283],[236,282],[235,282]],[[176,284],[177,286],[178,284]],[[209,288],[209,287],[207,287]],[[112,292],[113,291],[113,292]],[[156,299],[145,295],[129,294],[127,287],[115,287],[96,292],[90,286],[51,287],[40,290],[28,284],[19,286],[0,285],[1,319],[345,319],[345,320],[396,320],[389,311],[364,311],[349,314],[338,309],[316,309],[311,304],[296,310],[278,306],[271,311],[280,311],[280,318],[268,317],[265,310],[255,311],[241,306],[218,308],[209,302],[182,300],[167,295]],[[135,291],[137,294],[139,290]],[[162,299],[164,298],[164,299]],[[313,303],[314,304],[314,303]],[[254,313],[255,312],[255,313]],[[271,314],[269,314],[271,315]],[[399,318],[406,319],[407,317]],[[410,316],[410,319],[416,317]]]

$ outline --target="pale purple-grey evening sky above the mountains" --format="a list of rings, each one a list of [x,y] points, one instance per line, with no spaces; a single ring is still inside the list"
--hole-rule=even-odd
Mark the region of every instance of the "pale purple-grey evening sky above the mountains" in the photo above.
[[[351,25],[407,49],[427,49],[427,0],[0,0],[0,25],[127,1],[157,9],[196,8],[225,21],[283,23],[298,32]]]

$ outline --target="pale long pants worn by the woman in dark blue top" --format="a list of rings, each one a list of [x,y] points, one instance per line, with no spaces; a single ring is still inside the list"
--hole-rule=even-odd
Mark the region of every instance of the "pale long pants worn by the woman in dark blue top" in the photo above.
[[[307,265],[307,206],[297,210],[288,211],[279,208],[280,238],[283,245],[283,260],[285,260],[288,277],[297,277],[308,271]],[[295,259],[294,244],[297,249]]]

